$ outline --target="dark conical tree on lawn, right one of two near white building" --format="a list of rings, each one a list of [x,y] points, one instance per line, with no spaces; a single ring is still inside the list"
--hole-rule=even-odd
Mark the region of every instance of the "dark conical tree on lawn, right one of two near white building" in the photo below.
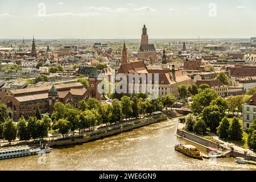
[[[243,137],[242,126],[236,117],[233,118],[229,126],[229,138],[232,140],[241,140]]]

